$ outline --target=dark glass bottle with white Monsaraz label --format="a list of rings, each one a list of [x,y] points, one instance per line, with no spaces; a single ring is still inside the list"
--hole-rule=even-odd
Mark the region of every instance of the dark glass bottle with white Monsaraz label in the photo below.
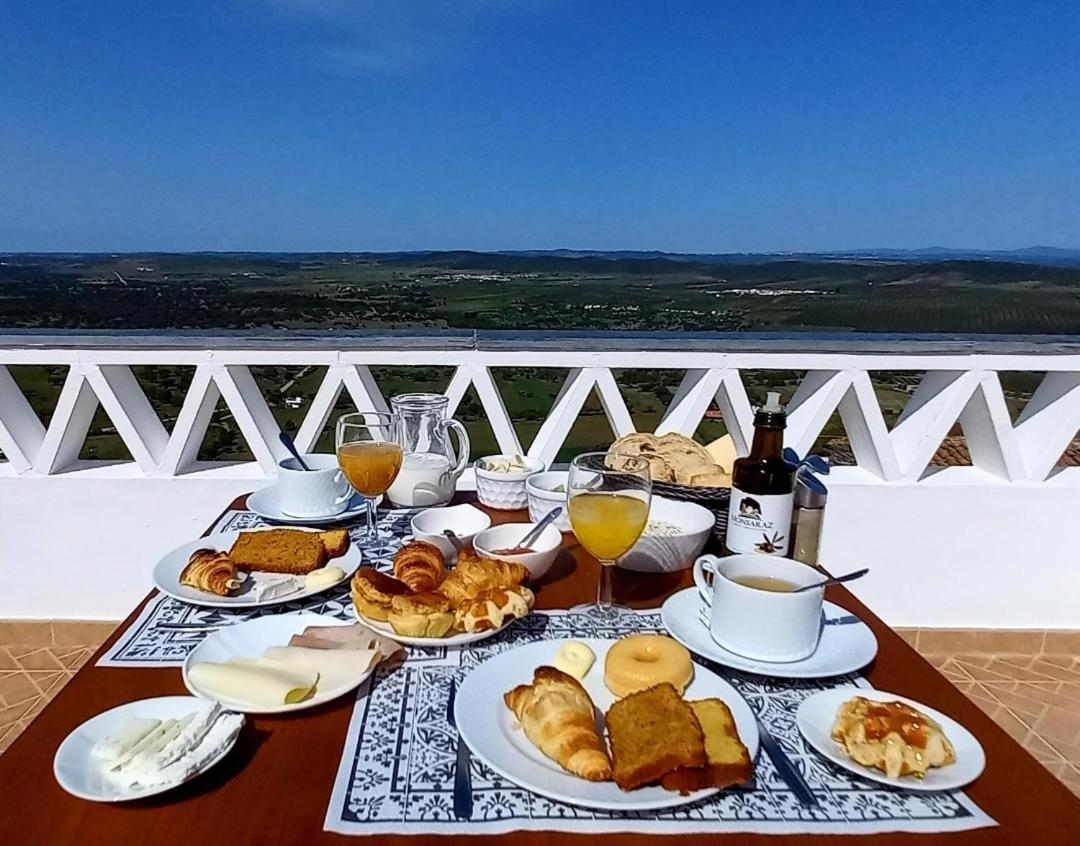
[[[791,542],[795,468],[781,455],[787,415],[780,394],[770,392],[754,415],[750,455],[731,471],[727,551],[786,555]]]

